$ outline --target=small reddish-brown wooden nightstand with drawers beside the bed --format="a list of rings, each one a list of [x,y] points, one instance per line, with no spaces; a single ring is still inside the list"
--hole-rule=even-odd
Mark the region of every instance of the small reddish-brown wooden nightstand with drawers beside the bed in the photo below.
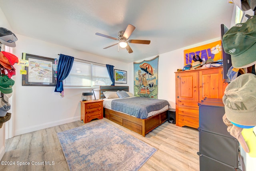
[[[104,100],[87,100],[81,102],[81,121],[90,122],[92,119],[103,118],[103,101]]]

